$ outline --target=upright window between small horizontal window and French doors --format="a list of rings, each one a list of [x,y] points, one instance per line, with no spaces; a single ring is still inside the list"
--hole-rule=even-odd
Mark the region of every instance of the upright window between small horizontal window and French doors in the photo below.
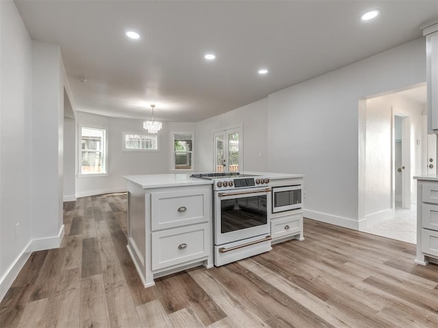
[[[172,133],[172,170],[193,170],[193,133]]]

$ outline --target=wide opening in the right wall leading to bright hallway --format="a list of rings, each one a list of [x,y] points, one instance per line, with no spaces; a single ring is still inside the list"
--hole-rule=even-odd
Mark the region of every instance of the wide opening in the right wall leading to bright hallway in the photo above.
[[[359,115],[364,150],[359,154],[359,230],[415,244],[413,176],[427,174],[430,163],[436,169],[436,136],[428,136],[426,128],[426,85],[361,100]]]

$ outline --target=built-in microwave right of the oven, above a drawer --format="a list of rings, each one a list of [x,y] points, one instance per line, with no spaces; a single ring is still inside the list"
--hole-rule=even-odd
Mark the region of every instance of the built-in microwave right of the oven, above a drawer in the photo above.
[[[302,185],[272,187],[272,213],[301,208]]]

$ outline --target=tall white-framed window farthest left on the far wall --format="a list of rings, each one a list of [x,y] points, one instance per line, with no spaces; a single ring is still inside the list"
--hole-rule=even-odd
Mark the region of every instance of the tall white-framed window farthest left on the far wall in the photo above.
[[[106,131],[81,128],[81,174],[106,174]]]

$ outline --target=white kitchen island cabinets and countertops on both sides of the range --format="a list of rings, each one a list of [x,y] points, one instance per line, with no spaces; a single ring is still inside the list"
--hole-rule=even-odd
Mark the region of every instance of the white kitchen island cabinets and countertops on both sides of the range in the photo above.
[[[244,174],[269,176],[272,187],[293,182],[299,186],[301,195],[302,175],[266,172]],[[124,178],[128,190],[127,249],[144,286],[153,286],[155,278],[190,267],[213,267],[214,181],[191,178],[190,174]],[[289,215],[291,213],[293,215]],[[292,212],[269,213],[268,216],[271,217],[271,214],[272,242],[303,239],[301,206]]]

